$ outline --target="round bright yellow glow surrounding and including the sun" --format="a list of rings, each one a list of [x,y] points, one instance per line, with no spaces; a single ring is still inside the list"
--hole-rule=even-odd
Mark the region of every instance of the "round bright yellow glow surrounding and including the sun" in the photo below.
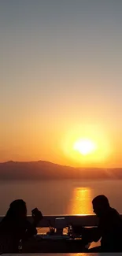
[[[69,164],[80,167],[104,167],[113,153],[109,135],[98,125],[74,126],[62,138],[61,145]]]

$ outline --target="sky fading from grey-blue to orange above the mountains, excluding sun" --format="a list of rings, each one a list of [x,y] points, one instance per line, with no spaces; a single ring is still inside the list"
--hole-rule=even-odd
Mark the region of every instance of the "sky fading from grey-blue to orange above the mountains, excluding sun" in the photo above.
[[[0,161],[122,166],[122,2],[0,1]],[[87,138],[97,150],[73,145]]]

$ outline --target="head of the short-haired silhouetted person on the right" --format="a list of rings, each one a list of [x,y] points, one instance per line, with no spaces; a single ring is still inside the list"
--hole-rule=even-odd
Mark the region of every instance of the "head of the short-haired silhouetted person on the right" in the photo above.
[[[104,213],[109,209],[109,200],[105,195],[96,196],[93,201],[93,210],[98,217],[102,217]]]

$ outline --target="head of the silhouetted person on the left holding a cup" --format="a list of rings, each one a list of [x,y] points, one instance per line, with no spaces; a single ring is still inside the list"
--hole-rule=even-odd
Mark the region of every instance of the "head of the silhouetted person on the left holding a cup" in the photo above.
[[[25,218],[27,216],[26,203],[22,199],[14,200],[11,202],[7,214],[16,220]]]

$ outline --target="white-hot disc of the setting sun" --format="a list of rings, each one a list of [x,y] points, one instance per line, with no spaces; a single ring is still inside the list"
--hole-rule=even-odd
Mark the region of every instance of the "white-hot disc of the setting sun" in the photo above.
[[[79,139],[74,143],[74,150],[78,151],[80,154],[86,155],[91,154],[96,150],[96,145],[90,139]]]

